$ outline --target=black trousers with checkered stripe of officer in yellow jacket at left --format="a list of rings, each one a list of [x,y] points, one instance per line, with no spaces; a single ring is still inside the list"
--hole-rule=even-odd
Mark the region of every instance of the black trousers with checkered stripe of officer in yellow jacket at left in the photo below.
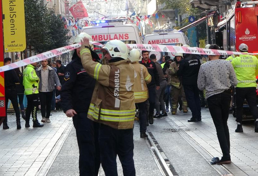
[[[30,121],[30,113],[32,112],[32,121],[37,121],[37,111],[38,111],[38,94],[26,95],[27,97],[27,108],[25,113],[25,121]]]

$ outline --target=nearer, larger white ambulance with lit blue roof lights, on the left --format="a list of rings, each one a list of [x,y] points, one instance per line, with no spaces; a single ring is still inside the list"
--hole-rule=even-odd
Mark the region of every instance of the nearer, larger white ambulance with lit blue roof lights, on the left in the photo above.
[[[121,40],[126,44],[141,44],[143,42],[139,28],[134,24],[126,24],[127,18],[93,20],[94,26],[83,27],[81,32],[91,35],[93,41],[106,44],[110,40]],[[94,47],[100,58],[99,47]]]

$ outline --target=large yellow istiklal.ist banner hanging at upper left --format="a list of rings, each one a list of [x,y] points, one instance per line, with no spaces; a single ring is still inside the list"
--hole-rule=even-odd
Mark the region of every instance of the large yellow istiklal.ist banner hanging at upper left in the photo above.
[[[23,0],[3,0],[4,52],[23,51],[26,48]]]

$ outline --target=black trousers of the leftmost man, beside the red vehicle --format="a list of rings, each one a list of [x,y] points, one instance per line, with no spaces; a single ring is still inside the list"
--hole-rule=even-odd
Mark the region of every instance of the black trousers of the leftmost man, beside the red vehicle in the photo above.
[[[13,109],[15,111],[16,120],[20,120],[20,110],[18,105],[18,98],[15,89],[5,89],[5,111],[6,111],[6,118],[4,119],[3,123],[7,123],[7,106],[8,100],[11,100]]]

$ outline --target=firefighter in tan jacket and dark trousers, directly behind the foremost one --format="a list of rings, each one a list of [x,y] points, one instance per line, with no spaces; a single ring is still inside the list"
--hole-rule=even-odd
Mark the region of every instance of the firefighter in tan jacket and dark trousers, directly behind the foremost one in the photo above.
[[[146,67],[138,62],[140,58],[140,52],[137,49],[133,49],[129,53],[129,59],[135,69],[135,86],[134,91],[134,102],[139,109],[139,121],[140,121],[140,137],[148,137],[146,134],[147,129],[147,99],[148,99],[148,88],[147,84],[151,82],[151,76]]]

